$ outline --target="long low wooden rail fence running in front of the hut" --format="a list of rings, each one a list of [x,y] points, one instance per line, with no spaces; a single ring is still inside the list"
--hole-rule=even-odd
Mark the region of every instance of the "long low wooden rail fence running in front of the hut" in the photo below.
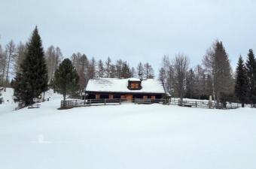
[[[87,99],[87,100],[66,100],[61,101],[60,108],[72,108],[72,107],[87,107],[87,106],[97,106],[97,105],[117,105],[123,102],[133,102],[134,104],[177,104],[183,107],[198,107],[198,108],[215,108],[217,107],[214,102],[209,101],[186,101],[182,103],[177,98],[171,99],[122,99],[122,98],[105,98],[105,99]],[[220,105],[219,105],[220,107]],[[227,109],[234,109],[241,107],[240,104],[227,103]]]

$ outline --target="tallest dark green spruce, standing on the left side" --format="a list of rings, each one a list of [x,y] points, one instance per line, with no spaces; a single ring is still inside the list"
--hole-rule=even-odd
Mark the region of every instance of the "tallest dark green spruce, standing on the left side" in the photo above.
[[[47,90],[47,66],[37,27],[27,44],[26,56],[20,68],[21,71],[17,72],[14,79],[14,101],[26,106],[33,103],[33,98],[38,98]]]

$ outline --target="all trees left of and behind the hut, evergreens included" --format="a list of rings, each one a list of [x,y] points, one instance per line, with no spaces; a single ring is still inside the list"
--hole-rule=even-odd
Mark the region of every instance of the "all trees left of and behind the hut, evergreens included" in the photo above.
[[[5,49],[0,45],[0,77],[0,86],[13,87],[14,101],[23,106],[32,104],[33,98],[44,98],[49,87],[66,99],[68,94],[81,95],[94,77],[148,79],[154,78],[154,70],[149,63],[139,62],[134,68],[121,59],[96,61],[81,53],[63,60],[59,47],[44,50],[36,27],[26,44],[10,41]]]

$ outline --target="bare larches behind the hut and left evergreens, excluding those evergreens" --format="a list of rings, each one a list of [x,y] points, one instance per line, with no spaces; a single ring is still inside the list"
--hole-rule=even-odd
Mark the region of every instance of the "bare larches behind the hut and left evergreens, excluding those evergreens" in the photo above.
[[[17,72],[20,72],[20,65],[26,57],[28,52],[28,44],[14,44],[10,41],[5,45],[5,48],[0,44],[0,86],[11,86],[11,79],[14,79]],[[59,64],[63,60],[62,51],[59,47],[50,45],[44,51],[44,59],[47,65],[47,75],[49,85],[53,86],[54,74]],[[98,61],[92,57],[88,58],[82,53],[73,53],[69,57],[72,65],[79,75],[80,91],[84,90],[88,80],[94,77],[105,78],[130,78],[137,77],[141,79],[154,78],[154,69],[148,62],[143,64],[139,62],[136,68],[131,67],[127,61],[118,59],[112,61],[108,57],[105,61],[99,59]]]

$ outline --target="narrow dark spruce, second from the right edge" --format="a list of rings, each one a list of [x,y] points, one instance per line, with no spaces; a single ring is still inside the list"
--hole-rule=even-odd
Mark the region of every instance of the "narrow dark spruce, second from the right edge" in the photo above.
[[[246,101],[248,101],[248,77],[242,56],[239,57],[239,61],[236,67],[235,94],[239,101],[242,103],[242,107],[244,107]]]

